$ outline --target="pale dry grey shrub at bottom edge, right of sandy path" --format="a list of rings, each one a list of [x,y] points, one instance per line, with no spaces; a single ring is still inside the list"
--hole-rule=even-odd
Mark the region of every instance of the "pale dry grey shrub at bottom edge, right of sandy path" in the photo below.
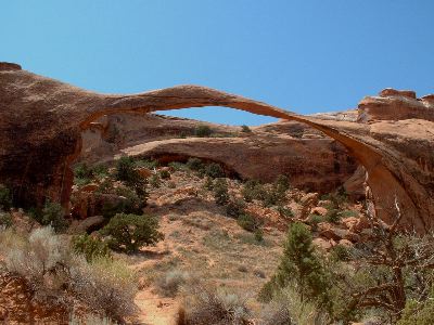
[[[239,296],[197,283],[190,286],[180,311],[178,325],[245,325],[251,317],[245,301]]]

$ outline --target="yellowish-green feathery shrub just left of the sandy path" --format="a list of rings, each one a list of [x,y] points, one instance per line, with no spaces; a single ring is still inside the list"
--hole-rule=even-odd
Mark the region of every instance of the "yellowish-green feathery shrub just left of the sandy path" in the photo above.
[[[117,322],[124,323],[124,317],[137,311],[136,276],[119,261],[100,258],[81,262],[71,270],[71,282],[76,297]]]

